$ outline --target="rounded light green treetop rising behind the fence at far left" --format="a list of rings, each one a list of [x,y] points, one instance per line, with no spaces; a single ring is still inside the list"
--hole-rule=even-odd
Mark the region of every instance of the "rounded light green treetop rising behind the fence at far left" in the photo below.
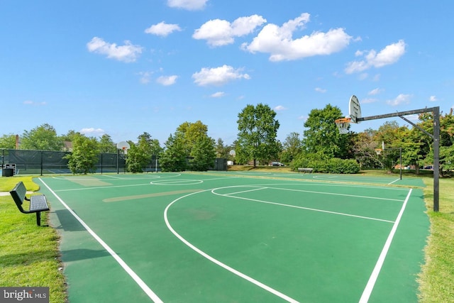
[[[57,136],[55,128],[45,123],[33,128],[31,131],[23,131],[21,149],[23,150],[62,150],[62,138]]]

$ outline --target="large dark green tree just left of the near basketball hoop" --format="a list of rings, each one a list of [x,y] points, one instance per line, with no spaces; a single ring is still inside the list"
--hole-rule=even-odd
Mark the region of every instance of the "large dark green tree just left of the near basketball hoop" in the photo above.
[[[345,155],[345,138],[338,131],[336,119],[342,111],[337,106],[328,104],[324,109],[312,109],[304,123],[303,145],[306,153],[317,154],[319,158],[342,158]]]

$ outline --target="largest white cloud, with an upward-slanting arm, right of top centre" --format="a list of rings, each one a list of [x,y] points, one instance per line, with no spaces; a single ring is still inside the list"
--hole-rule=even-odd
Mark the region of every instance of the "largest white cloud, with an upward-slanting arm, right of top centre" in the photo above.
[[[297,60],[315,55],[331,55],[345,48],[352,37],[343,28],[331,29],[326,33],[314,32],[301,38],[293,39],[294,31],[304,28],[309,22],[309,13],[287,21],[282,26],[269,23],[248,45],[243,43],[243,50],[250,53],[270,53],[270,61]]]

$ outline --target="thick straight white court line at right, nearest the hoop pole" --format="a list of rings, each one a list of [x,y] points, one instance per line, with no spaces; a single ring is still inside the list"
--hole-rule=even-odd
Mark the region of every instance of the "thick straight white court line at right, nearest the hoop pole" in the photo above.
[[[367,303],[370,298],[370,294],[372,294],[372,290],[374,289],[375,282],[377,282],[378,275],[380,274],[380,270],[382,270],[382,266],[384,263],[384,259],[386,258],[386,255],[388,253],[389,247],[391,246],[392,238],[394,238],[394,234],[397,231],[397,226],[399,226],[400,219],[402,218],[402,215],[404,214],[405,207],[407,202],[409,201],[411,191],[413,189],[410,189],[409,194],[406,195],[406,199],[404,204],[402,205],[402,208],[399,211],[399,215],[397,216],[396,221],[394,222],[394,225],[392,226],[391,232],[389,233],[389,236],[384,243],[382,253],[380,253],[380,257],[377,260],[377,263],[375,264],[374,270],[372,270],[372,275],[369,277],[369,281],[367,281],[367,285],[362,292],[361,298],[360,298],[360,303]]]

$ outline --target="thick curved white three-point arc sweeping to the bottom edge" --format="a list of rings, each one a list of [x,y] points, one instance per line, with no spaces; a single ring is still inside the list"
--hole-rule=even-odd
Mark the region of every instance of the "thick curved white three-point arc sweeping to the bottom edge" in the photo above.
[[[165,221],[165,225],[167,225],[167,228],[169,228],[169,230],[177,238],[179,238],[180,241],[182,241],[184,244],[189,246],[189,248],[194,250],[196,253],[199,253],[200,255],[204,256],[204,258],[210,260],[211,262],[215,263],[216,265],[221,266],[221,268],[224,268],[225,270],[228,270],[229,272],[232,272],[233,274],[238,275],[238,277],[242,277],[244,280],[247,280],[248,282],[251,282],[251,283],[257,285],[258,287],[261,287],[263,290],[267,290],[268,292],[271,292],[272,294],[275,294],[277,297],[280,297],[280,298],[286,300],[287,302],[298,303],[297,300],[292,299],[291,297],[287,296],[286,294],[282,294],[282,292],[279,292],[279,291],[273,289],[272,287],[269,287],[269,286],[263,284],[262,282],[259,282],[258,280],[255,280],[253,277],[249,277],[248,275],[243,274],[243,272],[239,272],[238,270],[236,270],[234,268],[231,268],[230,266],[222,263],[221,261],[211,257],[211,255],[208,255],[203,250],[200,250],[199,248],[196,248],[196,246],[194,246],[191,243],[189,243],[189,241],[187,241],[185,238],[180,236],[179,233],[177,233],[177,231],[175,231],[175,229],[172,228],[172,226],[170,225],[169,219],[167,218],[167,212],[168,212],[170,206],[172,206],[172,204],[174,204],[175,202],[179,201],[179,199],[183,199],[185,197],[189,197],[192,194],[199,194],[201,192],[207,192],[209,190],[213,190],[213,189],[206,189],[206,190],[202,190],[200,192],[192,192],[191,194],[187,194],[187,195],[184,195],[182,197],[179,197],[178,199],[173,200],[169,205],[167,205],[167,207],[165,208],[165,211],[164,211],[164,221]]]

